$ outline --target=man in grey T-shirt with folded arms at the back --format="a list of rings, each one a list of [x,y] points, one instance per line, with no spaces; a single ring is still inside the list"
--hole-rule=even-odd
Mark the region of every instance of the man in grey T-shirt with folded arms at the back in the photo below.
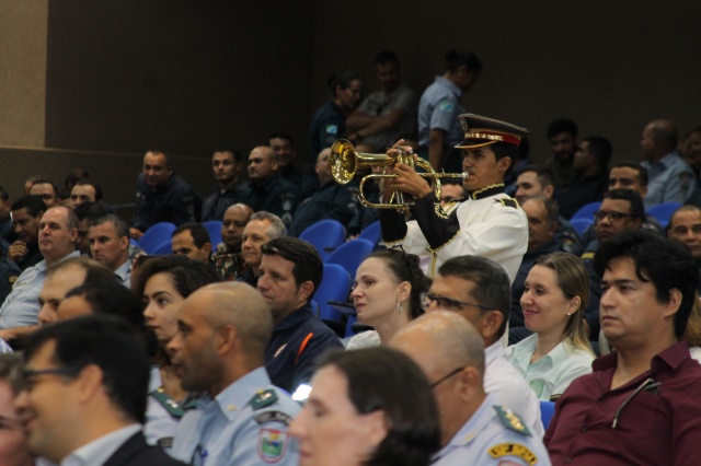
[[[346,126],[350,140],[384,151],[398,139],[415,138],[418,97],[402,84],[397,54],[380,51],[375,66],[382,90],[368,95],[348,116]]]

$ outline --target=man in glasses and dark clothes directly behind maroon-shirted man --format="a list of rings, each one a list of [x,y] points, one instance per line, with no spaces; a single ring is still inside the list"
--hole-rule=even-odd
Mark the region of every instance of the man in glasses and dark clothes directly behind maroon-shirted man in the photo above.
[[[602,242],[628,230],[637,229],[645,219],[643,198],[632,189],[611,189],[604,196],[601,207],[594,212],[596,240],[587,245],[582,259],[589,275],[589,304],[584,312],[589,339],[599,339],[600,277],[594,271],[594,257]]]

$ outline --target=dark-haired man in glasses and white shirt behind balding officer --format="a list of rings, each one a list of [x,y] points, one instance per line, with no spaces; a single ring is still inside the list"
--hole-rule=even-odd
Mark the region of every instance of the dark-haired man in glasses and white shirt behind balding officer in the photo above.
[[[422,295],[422,305],[428,313],[452,311],[472,324],[484,340],[484,391],[518,412],[540,439],[540,403],[504,356],[499,341],[508,323],[510,296],[508,276],[499,265],[484,257],[459,256],[440,266],[428,293]]]

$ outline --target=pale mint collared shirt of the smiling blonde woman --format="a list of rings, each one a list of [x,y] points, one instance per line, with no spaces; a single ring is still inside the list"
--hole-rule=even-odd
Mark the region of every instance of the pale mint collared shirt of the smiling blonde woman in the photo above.
[[[562,395],[572,381],[591,373],[594,356],[564,341],[531,364],[537,346],[538,334],[533,334],[506,348],[506,357],[524,374],[539,399],[547,401],[552,395]]]

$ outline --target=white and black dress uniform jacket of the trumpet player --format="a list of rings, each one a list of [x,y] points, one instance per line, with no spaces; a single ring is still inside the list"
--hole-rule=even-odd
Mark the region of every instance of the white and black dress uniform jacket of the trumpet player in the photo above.
[[[528,220],[503,184],[472,193],[450,214],[434,193],[417,199],[411,211],[416,220],[405,222],[403,213],[382,209],[382,240],[409,254],[432,253],[430,277],[449,258],[474,255],[499,264],[514,281],[528,248]]]

